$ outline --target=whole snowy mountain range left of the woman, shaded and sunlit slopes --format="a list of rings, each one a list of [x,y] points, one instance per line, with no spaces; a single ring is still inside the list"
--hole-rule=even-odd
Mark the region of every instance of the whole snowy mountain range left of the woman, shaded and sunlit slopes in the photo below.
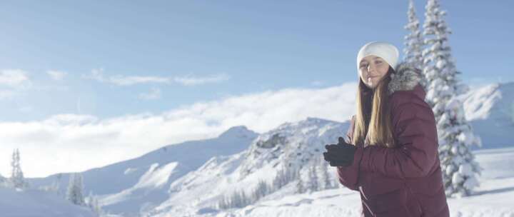
[[[129,161],[84,171],[85,194],[98,195],[104,211],[121,216],[189,209],[196,213],[197,208],[207,212],[230,193],[244,190],[249,195],[258,181],[271,183],[285,167],[299,171],[304,180],[310,175],[309,166],[328,168],[321,161],[324,145],[337,141],[347,129],[347,122],[320,118],[283,123],[261,135],[237,126],[218,138],[165,146]],[[328,179],[335,182],[333,171],[328,173]],[[68,178],[69,174],[62,173],[29,182],[34,187],[60,183],[64,191]],[[280,193],[266,197],[296,191],[294,183],[283,185]]]

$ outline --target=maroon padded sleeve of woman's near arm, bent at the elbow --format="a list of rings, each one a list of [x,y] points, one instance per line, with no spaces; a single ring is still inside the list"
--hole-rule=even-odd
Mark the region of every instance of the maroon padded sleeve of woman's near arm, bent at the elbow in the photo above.
[[[395,148],[366,146],[361,170],[382,173],[393,178],[427,176],[438,158],[438,136],[430,106],[421,99],[411,99],[393,111]]]

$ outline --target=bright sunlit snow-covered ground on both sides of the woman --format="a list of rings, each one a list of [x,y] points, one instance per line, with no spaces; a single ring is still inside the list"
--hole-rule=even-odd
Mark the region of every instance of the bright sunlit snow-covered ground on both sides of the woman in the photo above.
[[[475,151],[483,174],[472,196],[448,198],[451,216],[514,216],[514,147]],[[335,171],[333,171],[335,172]],[[291,187],[291,186],[290,186]],[[360,216],[361,198],[348,188],[263,200],[241,209],[182,208],[156,216]]]

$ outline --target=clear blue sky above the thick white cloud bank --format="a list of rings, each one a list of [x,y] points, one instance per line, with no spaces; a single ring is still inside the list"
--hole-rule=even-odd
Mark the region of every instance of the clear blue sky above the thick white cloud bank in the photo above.
[[[425,1],[415,4],[423,20]],[[441,2],[465,81],[513,80],[511,4]],[[158,113],[223,96],[355,81],[356,52],[367,41],[403,48],[407,6],[407,1],[2,1],[0,69],[25,71],[31,89],[4,100],[0,120]],[[118,86],[84,79],[100,69],[106,77],[213,82]],[[46,71],[66,76],[54,81]],[[141,99],[140,94],[156,92],[158,99]]]

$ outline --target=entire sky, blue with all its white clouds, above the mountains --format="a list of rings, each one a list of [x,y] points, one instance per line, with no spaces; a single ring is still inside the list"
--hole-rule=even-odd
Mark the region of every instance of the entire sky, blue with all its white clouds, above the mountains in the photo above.
[[[425,1],[415,1],[423,21]],[[469,84],[514,81],[510,1],[443,1]],[[0,174],[82,171],[236,125],[353,114],[356,54],[408,1],[1,1]],[[401,54],[403,56],[403,54]],[[44,163],[41,163],[44,162]]]

